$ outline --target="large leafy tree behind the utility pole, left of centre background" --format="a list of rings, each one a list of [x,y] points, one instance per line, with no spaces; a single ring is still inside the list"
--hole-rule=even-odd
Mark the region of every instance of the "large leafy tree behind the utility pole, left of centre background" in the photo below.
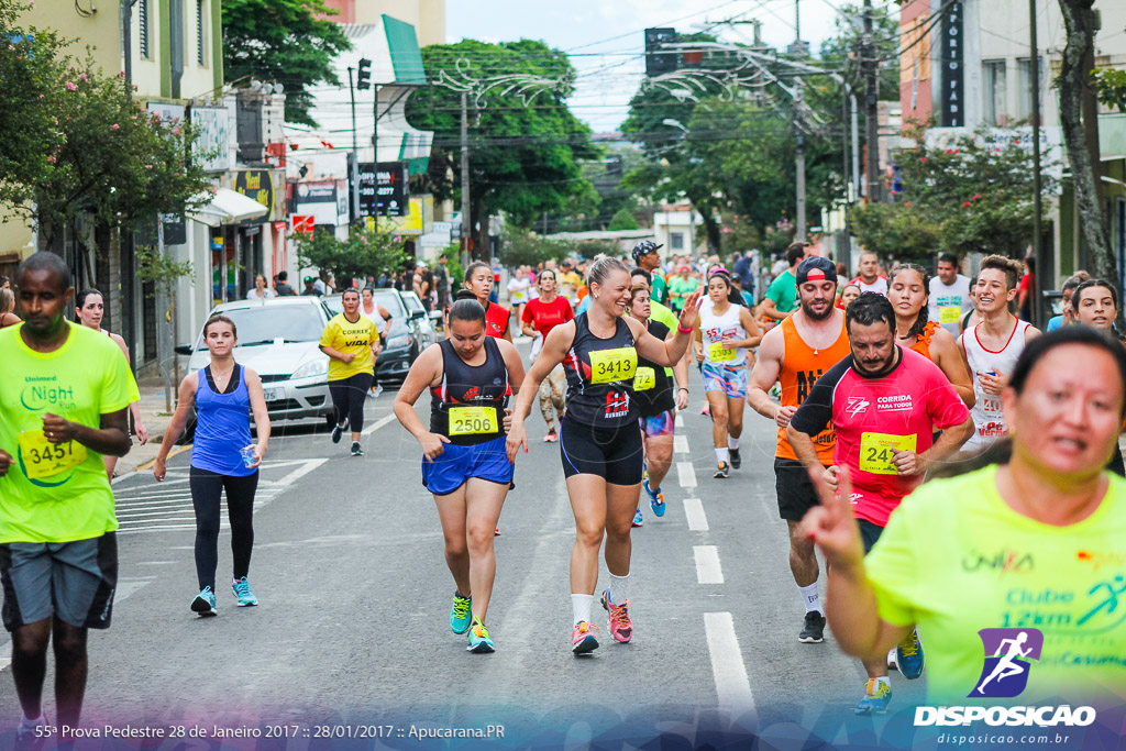
[[[522,74],[554,82],[530,102],[516,90],[498,87],[481,97],[483,108],[471,111],[470,208],[473,223],[481,227],[477,248],[488,247],[486,220],[497,212],[530,226],[578,196],[597,202],[580,161],[596,158],[598,151],[590,143],[590,128],[566,107],[574,69],[564,53],[528,39],[503,44],[464,39],[425,47],[422,60],[431,81],[445,72],[454,79]],[[458,61],[464,61],[461,69]],[[471,95],[471,106],[473,99]],[[461,198],[461,95],[443,86],[422,87],[406,104],[411,125],[435,134],[426,187],[437,200]]]

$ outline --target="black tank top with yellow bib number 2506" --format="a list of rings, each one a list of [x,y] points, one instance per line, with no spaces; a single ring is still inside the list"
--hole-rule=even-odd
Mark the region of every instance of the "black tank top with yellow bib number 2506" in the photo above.
[[[485,361],[466,365],[448,339],[441,347],[441,383],[430,387],[430,432],[455,446],[473,446],[504,435],[508,367],[500,347],[485,337]]]

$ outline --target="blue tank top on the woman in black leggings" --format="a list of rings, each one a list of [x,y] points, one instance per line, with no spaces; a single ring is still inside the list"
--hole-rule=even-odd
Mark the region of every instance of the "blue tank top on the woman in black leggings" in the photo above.
[[[231,477],[258,472],[242,463],[240,449],[253,442],[250,437],[250,392],[241,365],[232,377],[238,387],[229,394],[216,393],[208,375],[211,366],[199,370],[196,386],[196,437],[191,442],[191,466]]]

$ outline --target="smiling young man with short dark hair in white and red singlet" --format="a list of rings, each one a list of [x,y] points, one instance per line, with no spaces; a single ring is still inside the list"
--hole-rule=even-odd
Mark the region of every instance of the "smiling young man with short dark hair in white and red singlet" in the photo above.
[[[1020,263],[1003,256],[988,256],[977,271],[976,307],[982,322],[958,337],[958,351],[974,383],[974,435],[963,452],[977,452],[1008,432],[1001,409],[1001,391],[1025,346],[1039,330],[1009,312],[1017,296]]]

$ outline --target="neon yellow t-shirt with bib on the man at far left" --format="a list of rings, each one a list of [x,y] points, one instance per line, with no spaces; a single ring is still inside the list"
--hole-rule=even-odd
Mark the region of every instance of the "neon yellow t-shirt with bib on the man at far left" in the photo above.
[[[43,414],[97,428],[102,414],[141,399],[114,341],[70,323],[53,352],[36,352],[0,331],[0,449],[12,457],[0,477],[0,543],[70,543],[117,529],[101,454],[78,441],[43,439]]]

